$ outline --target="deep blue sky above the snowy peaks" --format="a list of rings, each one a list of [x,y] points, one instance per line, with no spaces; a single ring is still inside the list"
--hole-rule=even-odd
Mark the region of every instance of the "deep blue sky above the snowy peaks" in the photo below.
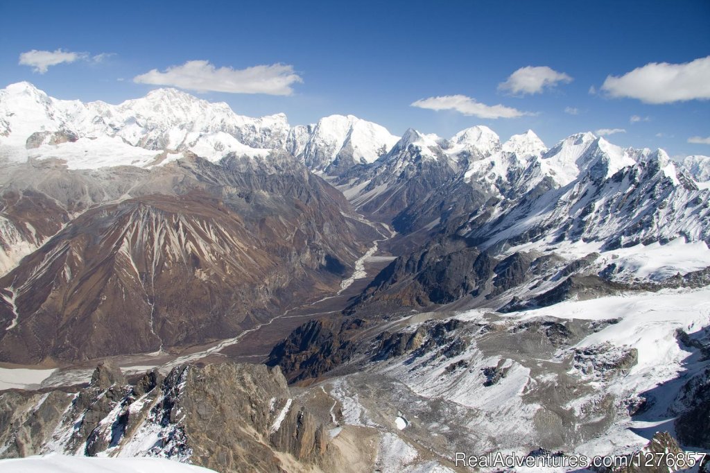
[[[285,112],[291,124],[354,114],[393,134],[411,126],[441,136],[485,124],[503,139],[533,129],[547,146],[578,131],[623,129],[609,141],[662,147],[671,155],[710,155],[710,139],[704,139],[710,138],[710,94],[703,85],[710,84],[710,60],[701,61],[710,56],[708,25],[707,0],[4,1],[0,87],[28,80],[53,97],[117,103],[178,77],[188,92],[227,102],[239,114]],[[45,62],[44,72],[37,64],[46,58],[36,54],[19,63],[23,53],[59,49],[77,56]],[[225,77],[232,70],[239,75],[258,65],[281,66],[245,73],[247,79],[266,74],[274,80],[263,91],[251,84],[268,93],[196,92],[180,79],[182,67],[195,60],[205,61],[193,63],[197,73],[231,68],[222,71]],[[680,70],[691,77],[678,87],[662,83],[675,66],[624,77],[654,62],[694,60],[699,62]],[[535,74],[552,74],[552,82],[520,89],[508,80],[528,66],[538,67]],[[177,69],[166,75],[168,67]],[[608,76],[622,80],[602,89]],[[219,89],[213,87],[219,77],[207,88]],[[640,90],[656,78],[656,89]],[[506,80],[520,87],[501,88]],[[237,92],[253,92],[244,87]],[[501,105],[520,116],[491,119],[495,112],[476,112],[481,107],[435,111],[411,105],[450,96],[484,109]],[[664,103],[648,103],[658,101]],[[442,108],[452,99],[426,103]],[[639,120],[632,123],[632,116]],[[688,143],[691,137],[700,142]]]

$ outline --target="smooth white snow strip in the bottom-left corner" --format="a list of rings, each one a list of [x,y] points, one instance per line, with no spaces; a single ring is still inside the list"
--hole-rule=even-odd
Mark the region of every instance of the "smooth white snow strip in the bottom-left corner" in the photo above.
[[[96,458],[50,454],[0,460],[4,473],[198,473],[212,469],[163,458]]]

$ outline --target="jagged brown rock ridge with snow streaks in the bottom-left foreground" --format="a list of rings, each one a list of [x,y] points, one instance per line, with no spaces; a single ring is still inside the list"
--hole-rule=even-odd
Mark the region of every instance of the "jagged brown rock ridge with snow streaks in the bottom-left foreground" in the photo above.
[[[151,439],[146,442],[146,439]],[[135,386],[99,366],[72,396],[0,394],[0,457],[44,452],[168,457],[219,471],[288,469],[321,462],[327,435],[297,406],[278,369],[263,365],[177,366]]]

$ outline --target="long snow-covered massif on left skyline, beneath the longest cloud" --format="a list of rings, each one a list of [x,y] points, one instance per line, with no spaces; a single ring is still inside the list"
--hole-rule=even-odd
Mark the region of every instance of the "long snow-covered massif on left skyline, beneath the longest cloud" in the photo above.
[[[253,119],[171,88],[117,105],[53,99],[28,82],[0,90],[0,148],[11,161],[60,158],[70,168],[98,168],[151,165],[164,151],[210,161],[263,157],[285,147],[289,130],[284,114]]]

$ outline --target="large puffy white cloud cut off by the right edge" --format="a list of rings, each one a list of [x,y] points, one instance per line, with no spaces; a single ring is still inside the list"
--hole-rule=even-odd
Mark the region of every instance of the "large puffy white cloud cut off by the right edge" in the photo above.
[[[710,99],[710,56],[683,64],[650,62],[620,77],[607,76],[601,89],[610,97],[648,104]]]

